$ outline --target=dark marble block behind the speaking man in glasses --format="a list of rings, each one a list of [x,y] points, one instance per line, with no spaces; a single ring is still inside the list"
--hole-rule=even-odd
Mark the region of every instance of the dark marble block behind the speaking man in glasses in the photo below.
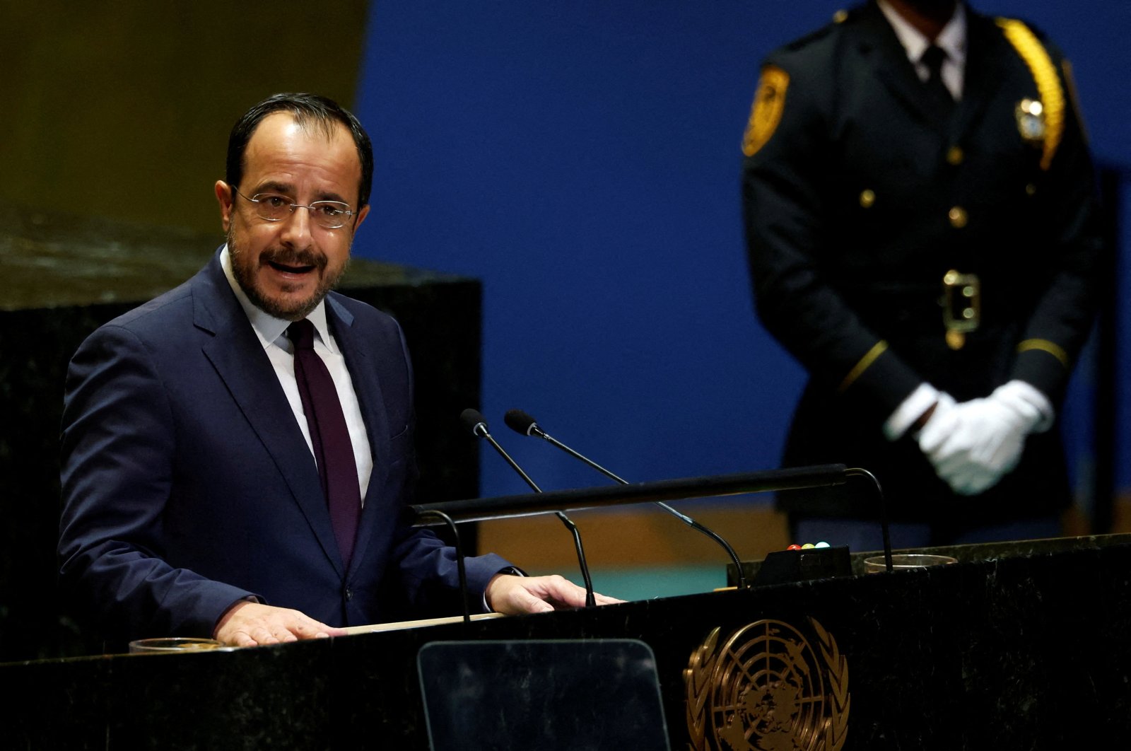
[[[222,241],[0,206],[0,661],[102,650],[55,588],[67,363],[97,326],[192,276]],[[342,291],[405,329],[416,376],[418,498],[474,498],[478,447],[458,416],[478,404],[480,282],[355,260]],[[463,536],[468,550],[474,533]]]

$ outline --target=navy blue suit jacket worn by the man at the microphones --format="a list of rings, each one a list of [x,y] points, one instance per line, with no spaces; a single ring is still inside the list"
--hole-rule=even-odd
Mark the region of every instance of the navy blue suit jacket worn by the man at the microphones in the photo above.
[[[326,312],[373,451],[348,570],[313,457],[218,253],[79,347],[59,553],[62,584],[106,636],[211,636],[249,595],[330,625],[459,612],[455,551],[402,516],[416,469],[400,327],[337,293]],[[472,593],[507,566],[468,559]]]

